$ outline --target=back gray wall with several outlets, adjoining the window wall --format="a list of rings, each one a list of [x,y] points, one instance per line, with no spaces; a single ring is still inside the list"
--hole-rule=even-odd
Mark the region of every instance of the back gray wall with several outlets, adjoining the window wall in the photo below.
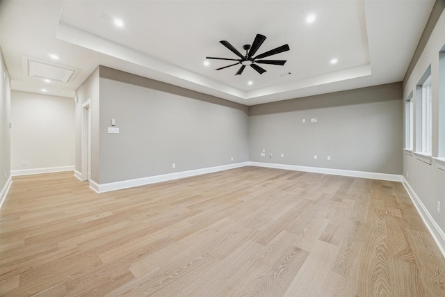
[[[250,161],[401,174],[401,99],[391,83],[250,106]]]

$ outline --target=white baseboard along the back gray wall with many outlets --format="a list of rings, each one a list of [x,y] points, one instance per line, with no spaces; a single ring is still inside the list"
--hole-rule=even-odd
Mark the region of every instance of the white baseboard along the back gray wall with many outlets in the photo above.
[[[276,163],[261,163],[261,162],[248,162],[248,163],[249,163],[249,166],[296,170],[296,171],[304,171],[304,172],[314,172],[314,173],[322,173],[325,175],[343,175],[346,177],[361,177],[361,178],[367,178],[367,179],[380,179],[380,180],[387,180],[387,181],[391,181],[391,182],[402,182],[402,177],[403,177],[402,175],[391,175],[388,173],[377,173],[377,172],[365,172],[365,171],[331,169],[331,168],[318,168],[318,167],[276,164]]]

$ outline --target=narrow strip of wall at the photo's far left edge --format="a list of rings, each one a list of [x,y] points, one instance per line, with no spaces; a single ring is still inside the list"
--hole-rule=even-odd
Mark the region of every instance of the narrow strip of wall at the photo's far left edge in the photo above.
[[[10,177],[10,114],[10,77],[0,49],[0,192]]]

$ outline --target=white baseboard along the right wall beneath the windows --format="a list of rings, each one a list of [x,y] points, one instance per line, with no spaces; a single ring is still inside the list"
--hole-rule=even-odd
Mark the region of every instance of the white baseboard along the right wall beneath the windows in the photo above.
[[[423,205],[421,199],[419,196],[414,192],[411,185],[405,177],[402,179],[402,184],[405,187],[405,190],[407,191],[408,195],[410,195],[410,198],[412,200],[412,204],[414,204],[414,207],[416,207],[417,212],[419,212],[423,223],[425,223],[426,227],[430,231],[430,234],[432,238],[436,241],[437,246],[439,247],[439,250],[442,252],[442,255],[445,257],[445,233],[444,230],[442,230],[439,225],[436,223],[434,218],[432,218],[430,212],[428,209],[426,209],[425,205]]]

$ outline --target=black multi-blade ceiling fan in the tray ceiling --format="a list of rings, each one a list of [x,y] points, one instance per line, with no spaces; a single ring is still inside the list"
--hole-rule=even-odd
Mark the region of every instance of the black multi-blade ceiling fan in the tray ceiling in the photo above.
[[[259,59],[266,58],[268,56],[272,56],[275,54],[280,54],[283,51],[289,51],[289,45],[282,45],[281,47],[277,47],[275,49],[270,49],[270,51],[266,51],[265,53],[259,54],[258,56],[253,56],[258,51],[259,47],[261,47],[264,40],[266,40],[266,36],[257,34],[257,36],[255,36],[255,39],[253,40],[252,46],[250,46],[250,45],[243,46],[243,49],[245,50],[245,56],[243,56],[243,54],[241,54],[238,50],[236,50],[228,41],[221,40],[220,43],[222,45],[227,47],[227,49],[231,50],[234,54],[236,54],[236,56],[238,56],[240,58],[238,58],[238,59],[215,58],[215,57],[206,57],[206,58],[213,59],[213,60],[236,61],[236,63],[234,63],[232,65],[220,67],[220,68],[217,68],[216,70],[222,70],[227,67],[232,67],[234,65],[241,64],[241,67],[239,68],[238,72],[236,72],[235,75],[239,75],[239,74],[243,73],[245,66],[250,66],[254,70],[257,70],[257,72],[259,74],[263,74],[264,72],[266,72],[266,70],[264,70],[262,67],[259,67],[259,65],[255,64],[255,63],[271,64],[271,65],[284,65],[284,63],[286,63],[286,60],[259,60]]]

